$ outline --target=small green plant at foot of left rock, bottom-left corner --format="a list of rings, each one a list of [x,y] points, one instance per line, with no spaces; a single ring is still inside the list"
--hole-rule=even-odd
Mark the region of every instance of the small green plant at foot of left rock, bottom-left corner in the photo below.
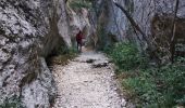
[[[21,99],[17,96],[7,98],[0,108],[23,108]]]

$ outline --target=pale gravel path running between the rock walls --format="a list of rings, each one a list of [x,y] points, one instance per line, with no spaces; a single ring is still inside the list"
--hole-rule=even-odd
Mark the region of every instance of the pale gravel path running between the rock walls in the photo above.
[[[66,66],[53,66],[52,71],[58,82],[53,108],[126,108],[103,54],[83,53]]]

